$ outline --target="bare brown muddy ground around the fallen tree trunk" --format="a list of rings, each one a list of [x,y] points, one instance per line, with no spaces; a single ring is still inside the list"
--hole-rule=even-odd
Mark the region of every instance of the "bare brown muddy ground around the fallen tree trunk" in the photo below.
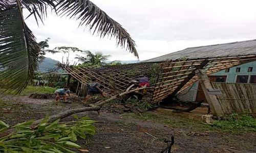
[[[9,124],[29,119],[39,119],[45,115],[80,108],[82,104],[58,103],[53,99],[30,99],[27,96],[0,97],[0,120]],[[155,112],[150,112],[156,114]],[[158,115],[158,114],[157,114]],[[160,116],[184,122],[172,126],[164,122],[142,120],[131,114],[113,114],[105,110],[79,113],[91,119],[103,121],[96,123],[97,132],[89,140],[78,140],[78,144],[89,152],[160,152],[166,144],[164,139],[175,137],[172,152],[255,152],[256,134],[232,134],[198,129],[188,126],[182,118]],[[65,120],[72,120],[70,116]],[[199,123],[198,124],[202,124]],[[146,133],[147,134],[146,134]],[[79,151],[77,151],[79,152]]]

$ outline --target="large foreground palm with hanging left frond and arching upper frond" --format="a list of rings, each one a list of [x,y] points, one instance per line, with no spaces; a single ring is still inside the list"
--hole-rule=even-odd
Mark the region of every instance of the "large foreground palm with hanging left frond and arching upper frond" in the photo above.
[[[135,42],[122,26],[89,0],[1,0],[0,1],[0,78],[10,90],[22,91],[33,77],[40,47],[27,26],[23,11],[35,21],[44,21],[47,12],[79,20],[79,26],[90,24],[93,34],[110,36],[117,44],[138,57]]]

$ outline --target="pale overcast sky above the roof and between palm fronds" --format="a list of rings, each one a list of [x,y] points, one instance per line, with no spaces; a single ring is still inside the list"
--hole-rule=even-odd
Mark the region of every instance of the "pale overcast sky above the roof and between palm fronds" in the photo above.
[[[256,39],[256,1],[91,0],[119,22],[137,44],[140,60],[201,45]],[[78,21],[48,14],[39,28],[26,20],[37,41],[50,39],[50,48],[74,46],[111,55],[110,60],[136,60],[116,46],[115,39],[100,39]],[[71,59],[75,54],[71,55]],[[62,55],[48,54],[61,61]]]

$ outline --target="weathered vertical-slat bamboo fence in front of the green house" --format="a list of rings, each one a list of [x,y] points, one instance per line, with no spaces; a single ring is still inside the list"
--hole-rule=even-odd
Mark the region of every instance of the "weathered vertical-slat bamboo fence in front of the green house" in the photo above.
[[[212,83],[212,85],[222,92],[217,98],[225,114],[256,113],[256,84]]]

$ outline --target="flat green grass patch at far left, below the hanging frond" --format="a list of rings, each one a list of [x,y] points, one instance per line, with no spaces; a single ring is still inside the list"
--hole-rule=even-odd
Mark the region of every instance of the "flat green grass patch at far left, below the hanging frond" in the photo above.
[[[27,86],[19,95],[29,95],[31,93],[54,93],[56,88],[52,87],[38,87],[38,86]],[[10,91],[8,94],[16,94],[15,91]]]

